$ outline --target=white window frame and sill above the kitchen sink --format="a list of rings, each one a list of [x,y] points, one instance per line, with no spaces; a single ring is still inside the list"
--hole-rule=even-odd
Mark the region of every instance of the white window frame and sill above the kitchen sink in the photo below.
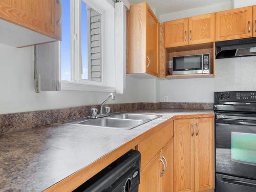
[[[101,14],[101,81],[82,79],[81,63],[81,2]],[[71,81],[61,80],[62,90],[115,92],[113,86],[106,86],[105,63],[105,11],[92,0],[71,0]],[[115,69],[113,69],[115,71]],[[115,74],[115,73],[114,73]]]

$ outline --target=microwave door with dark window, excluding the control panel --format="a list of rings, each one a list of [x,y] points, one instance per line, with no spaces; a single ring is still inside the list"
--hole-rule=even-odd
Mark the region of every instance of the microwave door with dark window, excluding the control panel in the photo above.
[[[173,75],[203,73],[202,55],[173,57]]]

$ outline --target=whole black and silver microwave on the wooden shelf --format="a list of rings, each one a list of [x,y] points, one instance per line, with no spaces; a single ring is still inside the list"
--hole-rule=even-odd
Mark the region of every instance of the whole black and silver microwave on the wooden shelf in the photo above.
[[[171,75],[210,73],[210,54],[173,57]]]

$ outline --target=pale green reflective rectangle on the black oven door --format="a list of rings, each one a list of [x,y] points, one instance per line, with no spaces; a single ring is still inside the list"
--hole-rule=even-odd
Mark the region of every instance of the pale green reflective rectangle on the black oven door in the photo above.
[[[256,164],[256,134],[231,132],[231,159]]]

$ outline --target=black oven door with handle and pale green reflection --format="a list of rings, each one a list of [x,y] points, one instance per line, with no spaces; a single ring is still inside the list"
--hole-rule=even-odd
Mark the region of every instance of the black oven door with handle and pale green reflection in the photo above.
[[[256,179],[256,114],[216,117],[216,173]]]

